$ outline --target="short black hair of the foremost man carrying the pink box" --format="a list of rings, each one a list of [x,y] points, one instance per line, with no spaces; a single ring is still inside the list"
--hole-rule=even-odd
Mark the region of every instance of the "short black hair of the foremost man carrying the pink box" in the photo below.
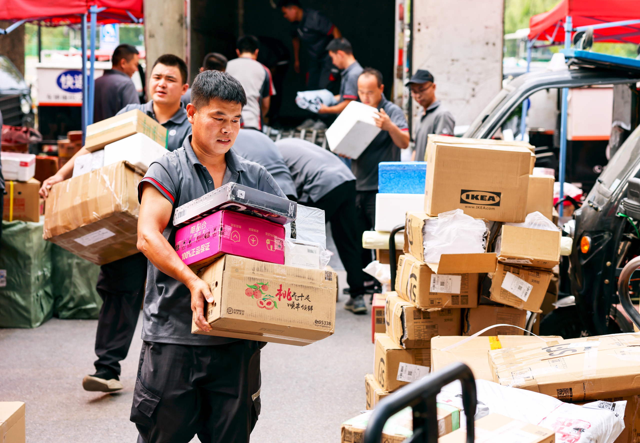
[[[246,94],[236,77],[227,72],[202,71],[191,85],[191,104],[196,109],[206,106],[214,98],[246,105]]]

